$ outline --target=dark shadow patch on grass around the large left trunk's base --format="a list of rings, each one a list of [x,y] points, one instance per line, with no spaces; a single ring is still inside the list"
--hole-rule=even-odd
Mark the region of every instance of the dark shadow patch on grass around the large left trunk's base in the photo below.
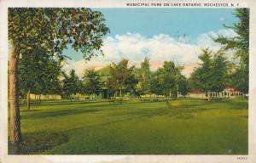
[[[37,155],[47,149],[53,149],[67,143],[67,136],[58,132],[33,132],[22,136],[22,142],[16,145],[8,143],[9,155]]]

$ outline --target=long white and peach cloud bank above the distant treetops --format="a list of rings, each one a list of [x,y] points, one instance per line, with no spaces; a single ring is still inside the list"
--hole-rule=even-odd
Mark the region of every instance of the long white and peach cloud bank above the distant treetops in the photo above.
[[[236,33],[232,30],[209,31],[191,39],[175,39],[166,34],[159,34],[154,37],[144,37],[139,33],[126,33],[108,36],[103,40],[103,56],[91,59],[88,62],[84,60],[69,61],[64,66],[64,70],[74,69],[79,76],[88,68],[101,69],[112,62],[119,62],[120,59],[129,59],[130,65],[140,66],[145,57],[150,59],[151,70],[156,70],[163,65],[166,60],[173,60],[176,65],[183,66],[183,75],[189,76],[194,67],[199,62],[198,56],[201,48],[210,48],[218,50],[220,45],[212,41],[212,37],[218,37],[218,34],[224,37],[235,37]]]

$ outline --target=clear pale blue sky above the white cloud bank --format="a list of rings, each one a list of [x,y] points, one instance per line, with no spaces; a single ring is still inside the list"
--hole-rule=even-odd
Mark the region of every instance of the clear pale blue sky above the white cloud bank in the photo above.
[[[110,29],[108,36],[138,33],[143,37],[166,34],[173,38],[187,37],[189,43],[200,35],[224,29],[223,23],[232,25],[236,18],[233,8],[95,8],[105,15]],[[82,55],[68,48],[63,53],[74,61]]]

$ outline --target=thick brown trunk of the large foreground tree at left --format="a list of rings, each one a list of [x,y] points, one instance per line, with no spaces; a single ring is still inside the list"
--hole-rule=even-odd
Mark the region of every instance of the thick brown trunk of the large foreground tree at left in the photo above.
[[[15,48],[12,48],[9,57],[10,142],[12,144],[21,141],[18,63],[19,53]]]

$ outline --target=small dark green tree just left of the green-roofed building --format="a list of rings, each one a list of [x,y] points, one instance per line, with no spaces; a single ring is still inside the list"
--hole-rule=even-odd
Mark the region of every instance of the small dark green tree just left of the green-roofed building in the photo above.
[[[88,69],[84,71],[83,80],[84,93],[96,94],[101,93],[102,82],[101,76],[95,69]]]

